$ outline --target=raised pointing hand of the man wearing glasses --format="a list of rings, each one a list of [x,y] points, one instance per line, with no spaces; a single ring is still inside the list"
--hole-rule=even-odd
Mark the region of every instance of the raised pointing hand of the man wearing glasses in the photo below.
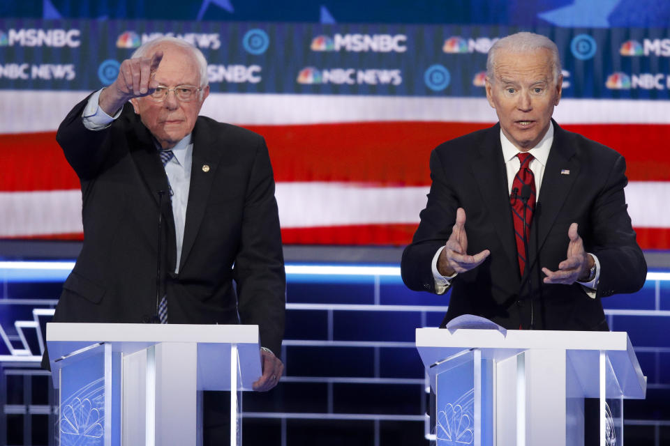
[[[157,51],[151,58],[135,57],[121,62],[117,80],[100,93],[98,105],[114,116],[128,100],[154,93],[158,87],[154,75],[162,59],[163,52]]]

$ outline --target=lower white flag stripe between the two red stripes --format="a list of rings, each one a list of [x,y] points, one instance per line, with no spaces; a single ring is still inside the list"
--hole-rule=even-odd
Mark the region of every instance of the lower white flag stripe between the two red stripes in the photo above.
[[[285,229],[359,224],[416,224],[427,186],[364,187],[346,183],[277,183]],[[626,187],[633,226],[670,229],[670,182],[633,181]],[[81,192],[0,192],[0,237],[80,233]]]

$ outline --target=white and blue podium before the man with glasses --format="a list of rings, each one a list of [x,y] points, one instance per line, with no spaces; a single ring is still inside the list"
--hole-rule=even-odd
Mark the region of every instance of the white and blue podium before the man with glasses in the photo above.
[[[261,376],[258,325],[48,323],[58,444],[201,445],[202,390],[241,395]]]

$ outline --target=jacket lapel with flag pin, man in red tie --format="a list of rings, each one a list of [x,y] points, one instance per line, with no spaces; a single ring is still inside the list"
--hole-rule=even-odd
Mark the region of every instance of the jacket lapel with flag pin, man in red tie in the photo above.
[[[530,265],[535,263],[537,253],[542,249],[549,230],[556,221],[560,209],[579,175],[581,164],[574,156],[574,146],[570,144],[569,134],[553,120],[554,136],[549,158],[544,167],[544,176],[539,190],[539,212],[533,216],[530,232]],[[567,237],[567,233],[565,233]]]

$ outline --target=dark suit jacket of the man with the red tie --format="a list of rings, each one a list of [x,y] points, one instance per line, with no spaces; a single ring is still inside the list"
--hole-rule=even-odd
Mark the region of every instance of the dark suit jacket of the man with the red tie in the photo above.
[[[505,328],[530,328],[532,308],[537,329],[606,330],[600,298],[633,293],[643,285],[646,263],[623,192],[625,160],[610,148],[553,125],[553,144],[530,232],[530,268],[523,281],[516,261],[500,125],[447,141],[431,153],[428,203],[412,244],[403,252],[405,284],[435,292],[431,261],[449,238],[459,207],[466,210],[468,254],[491,250],[482,265],[453,279],[442,325],[461,314],[476,314]],[[595,299],[580,284],[542,283],[540,268],[556,270],[567,257],[572,222],[579,224],[586,251],[600,261]]]

